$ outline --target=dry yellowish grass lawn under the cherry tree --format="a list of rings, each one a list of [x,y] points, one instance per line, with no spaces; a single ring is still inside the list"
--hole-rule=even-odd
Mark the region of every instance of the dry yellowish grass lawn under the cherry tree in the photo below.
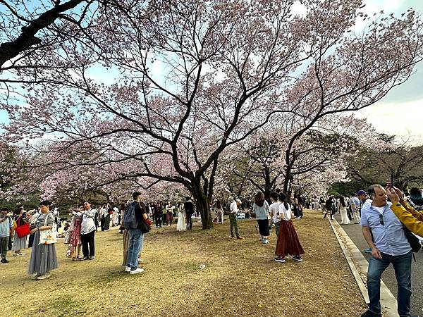
[[[96,259],[66,259],[42,281],[27,277],[27,255],[0,265],[1,316],[360,316],[365,310],[331,226],[321,213],[294,220],[306,254],[297,263],[274,259],[276,238],[259,242],[255,220],[229,221],[213,230],[153,229],[145,235],[145,272],[123,272],[122,235],[97,232]],[[200,265],[205,264],[201,269]]]

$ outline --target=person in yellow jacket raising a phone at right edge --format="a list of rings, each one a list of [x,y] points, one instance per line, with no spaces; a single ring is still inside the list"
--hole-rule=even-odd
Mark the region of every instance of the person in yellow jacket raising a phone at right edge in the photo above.
[[[400,189],[386,187],[386,194],[391,200],[391,210],[408,230],[423,237],[423,211],[417,211],[404,199]]]

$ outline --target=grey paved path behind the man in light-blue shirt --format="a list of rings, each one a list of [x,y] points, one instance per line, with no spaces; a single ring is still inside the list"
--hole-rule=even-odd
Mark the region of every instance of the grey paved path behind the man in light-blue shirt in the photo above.
[[[341,223],[341,216],[336,214],[336,220]],[[362,227],[360,225],[341,225],[343,230],[347,233],[351,240],[355,243],[358,249],[362,251],[364,257],[368,260],[371,254],[363,252],[364,248],[367,248],[367,242],[364,240],[362,235]],[[419,251],[416,256],[416,261],[412,261],[412,295],[411,295],[411,313],[413,315],[423,316],[423,251]],[[388,266],[384,274],[382,275],[386,286],[391,290],[392,294],[396,296],[397,283],[395,278],[395,272],[393,266]]]

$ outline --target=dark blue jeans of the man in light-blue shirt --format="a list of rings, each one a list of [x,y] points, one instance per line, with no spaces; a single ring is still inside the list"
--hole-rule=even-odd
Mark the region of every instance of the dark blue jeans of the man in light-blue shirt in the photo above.
[[[391,256],[382,252],[381,255],[382,259],[376,259],[372,256],[369,260],[369,269],[367,271],[367,290],[370,299],[369,311],[381,313],[381,275],[392,263],[398,283],[398,314],[400,316],[410,316],[412,251],[401,256]]]

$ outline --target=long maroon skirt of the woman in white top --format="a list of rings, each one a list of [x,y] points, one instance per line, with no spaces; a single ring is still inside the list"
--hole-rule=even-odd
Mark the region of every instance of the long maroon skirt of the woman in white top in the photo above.
[[[287,255],[298,256],[304,253],[292,220],[281,220],[275,254],[283,257]]]

